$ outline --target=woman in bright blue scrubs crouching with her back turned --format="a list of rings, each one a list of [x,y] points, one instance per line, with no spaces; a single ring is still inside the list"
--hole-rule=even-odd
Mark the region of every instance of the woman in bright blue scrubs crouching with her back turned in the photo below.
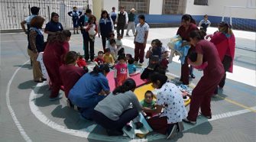
[[[109,81],[105,77],[108,73],[107,64],[95,66],[91,73],[83,75],[70,90],[68,97],[73,105],[80,108],[83,118],[92,120],[93,108],[109,94]]]

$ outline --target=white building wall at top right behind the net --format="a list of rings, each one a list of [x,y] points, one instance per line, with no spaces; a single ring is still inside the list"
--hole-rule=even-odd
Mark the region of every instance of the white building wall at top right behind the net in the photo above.
[[[255,7],[256,0],[249,0]],[[247,6],[245,0],[208,0],[208,6],[194,5],[194,0],[186,1],[186,14],[190,15],[212,15],[222,17],[224,7],[226,6]],[[229,17],[231,13],[232,18],[250,18],[256,19],[256,8],[231,8],[228,11],[226,8],[225,16]]]

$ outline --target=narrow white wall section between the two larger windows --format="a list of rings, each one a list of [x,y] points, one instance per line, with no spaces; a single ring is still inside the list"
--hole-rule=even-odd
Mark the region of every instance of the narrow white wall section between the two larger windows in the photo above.
[[[150,0],[149,4],[150,15],[162,15],[163,0]]]

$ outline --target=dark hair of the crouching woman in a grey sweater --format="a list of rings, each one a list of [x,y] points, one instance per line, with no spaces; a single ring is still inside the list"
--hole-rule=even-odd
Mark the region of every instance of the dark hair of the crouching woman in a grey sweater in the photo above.
[[[134,79],[126,79],[122,86],[118,86],[113,91],[113,95],[117,95],[118,93],[128,92],[130,90],[134,90],[136,88],[136,82]]]

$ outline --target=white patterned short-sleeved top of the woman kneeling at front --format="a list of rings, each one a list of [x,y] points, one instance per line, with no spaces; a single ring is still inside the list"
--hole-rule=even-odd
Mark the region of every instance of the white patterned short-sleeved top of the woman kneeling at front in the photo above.
[[[177,123],[187,116],[182,92],[176,85],[166,82],[157,92],[157,105],[167,105],[160,117],[167,116],[167,123]]]

